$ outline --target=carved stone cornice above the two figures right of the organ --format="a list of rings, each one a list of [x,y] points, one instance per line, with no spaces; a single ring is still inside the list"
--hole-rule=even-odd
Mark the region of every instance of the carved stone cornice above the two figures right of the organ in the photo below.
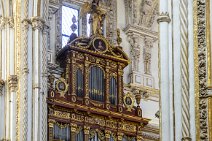
[[[158,32],[152,31],[148,28],[136,26],[136,25],[130,25],[128,24],[126,28],[123,29],[123,31],[128,35],[138,35],[142,37],[150,37],[154,40],[158,39]]]

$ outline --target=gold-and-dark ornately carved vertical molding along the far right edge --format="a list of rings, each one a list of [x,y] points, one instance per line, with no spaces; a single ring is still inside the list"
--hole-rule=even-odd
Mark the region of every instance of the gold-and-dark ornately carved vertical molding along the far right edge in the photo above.
[[[208,93],[207,93],[207,43],[206,43],[206,1],[197,0],[194,5],[197,9],[197,47],[199,61],[199,121],[200,140],[209,140],[208,126]],[[196,81],[196,80],[195,80]]]

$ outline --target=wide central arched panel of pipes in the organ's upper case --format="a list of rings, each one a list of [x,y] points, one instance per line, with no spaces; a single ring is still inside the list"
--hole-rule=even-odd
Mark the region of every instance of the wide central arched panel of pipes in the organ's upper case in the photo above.
[[[90,68],[89,97],[92,100],[104,101],[104,72],[97,66]]]

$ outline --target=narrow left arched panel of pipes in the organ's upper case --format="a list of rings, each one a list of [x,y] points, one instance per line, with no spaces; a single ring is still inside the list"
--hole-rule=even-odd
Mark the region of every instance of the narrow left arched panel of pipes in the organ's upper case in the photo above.
[[[83,97],[83,75],[80,69],[76,73],[76,94],[79,97]]]

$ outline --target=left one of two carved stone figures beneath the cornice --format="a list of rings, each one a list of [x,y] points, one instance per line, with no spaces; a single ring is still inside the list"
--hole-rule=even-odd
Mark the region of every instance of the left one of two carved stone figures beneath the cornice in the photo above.
[[[132,37],[130,39],[131,44],[131,54],[132,54],[132,70],[139,71],[139,60],[140,60],[140,45],[139,45],[139,38]]]

